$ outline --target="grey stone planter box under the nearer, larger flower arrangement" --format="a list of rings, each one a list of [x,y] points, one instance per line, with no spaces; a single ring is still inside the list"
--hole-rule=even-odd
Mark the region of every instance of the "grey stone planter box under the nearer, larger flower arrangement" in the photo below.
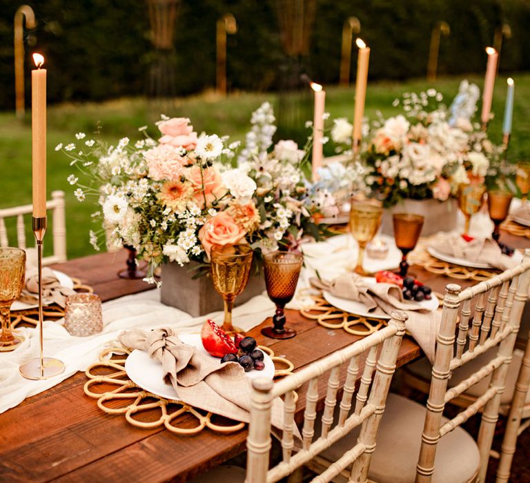
[[[223,299],[213,288],[210,273],[204,277],[193,279],[197,273],[196,267],[195,262],[190,262],[184,266],[179,266],[175,262],[162,265],[162,286],[160,288],[162,304],[179,308],[193,317],[222,311]],[[243,293],[235,298],[235,306],[248,302],[264,290],[266,288],[263,274],[253,275],[251,272]]]

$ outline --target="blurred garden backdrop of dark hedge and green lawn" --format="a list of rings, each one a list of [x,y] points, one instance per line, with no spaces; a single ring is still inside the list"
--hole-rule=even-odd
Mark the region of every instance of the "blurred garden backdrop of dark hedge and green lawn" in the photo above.
[[[92,253],[90,201],[80,204],[55,152],[94,132],[110,143],[141,138],[160,114],[189,117],[198,132],[243,139],[251,112],[273,103],[278,136],[303,141],[312,117],[308,79],[324,85],[331,118],[353,118],[357,49],[350,85],[340,85],[345,22],[371,47],[365,115],[396,112],[402,92],[434,87],[451,100],[462,79],[482,88],[486,46],[500,63],[489,132],[502,139],[506,79],[516,81],[509,159],[530,156],[528,0],[46,0],[26,2],[37,26],[23,30],[26,114],[15,116],[13,19],[20,3],[0,0],[0,207],[31,201],[31,54],[48,69],[48,194],[66,191],[68,257]],[[226,17],[230,14],[230,17]],[[231,17],[233,16],[233,17]],[[226,95],[219,88],[219,21],[226,28]],[[235,23],[234,23],[235,21]],[[442,23],[443,22],[443,23]],[[349,25],[352,25],[349,23]],[[442,28],[443,26],[443,28]],[[446,29],[447,27],[448,29]],[[169,30],[168,30],[169,29]],[[436,79],[426,80],[433,30],[440,34]],[[357,29],[358,30],[358,29]],[[217,33],[216,33],[217,32]],[[293,35],[295,32],[295,35]],[[352,33],[350,32],[350,35]],[[344,77],[344,74],[343,74]],[[324,146],[333,155],[332,146]],[[28,237],[29,239],[29,237]]]

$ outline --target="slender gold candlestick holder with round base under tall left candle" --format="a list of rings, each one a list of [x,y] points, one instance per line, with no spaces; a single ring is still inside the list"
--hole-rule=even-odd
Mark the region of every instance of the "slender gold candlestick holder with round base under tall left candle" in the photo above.
[[[48,224],[47,217],[32,217],[31,226],[37,241],[37,270],[39,274],[39,346],[40,357],[24,362],[19,367],[22,377],[31,380],[45,380],[50,379],[55,375],[64,372],[64,363],[54,357],[44,357],[43,350],[43,310],[42,310],[42,248],[43,239],[46,234],[46,226]]]

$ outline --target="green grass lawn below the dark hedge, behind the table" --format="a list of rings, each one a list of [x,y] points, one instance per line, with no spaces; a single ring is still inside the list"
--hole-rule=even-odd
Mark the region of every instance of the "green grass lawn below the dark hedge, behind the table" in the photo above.
[[[509,158],[512,161],[530,156],[530,74],[513,75],[516,79],[516,100],[513,112],[513,134]],[[491,139],[500,142],[502,138],[502,114],[506,97],[506,83],[502,75],[495,84],[493,111],[497,116],[491,122]],[[435,87],[450,103],[458,90],[459,78],[440,79],[433,84],[424,80],[406,83],[372,83],[366,95],[366,115],[373,118],[377,110],[388,116],[397,112],[392,101],[402,92],[420,92]],[[482,78],[469,77],[470,81],[482,86]],[[140,139],[139,126],[150,125],[159,119],[161,112],[173,117],[189,117],[198,132],[230,135],[233,139],[244,139],[248,130],[251,112],[263,101],[277,103],[275,94],[233,94],[220,99],[212,94],[186,99],[155,101],[148,99],[119,99],[106,103],[82,103],[52,106],[48,109],[48,198],[52,190],[66,192],[68,257],[80,257],[93,253],[88,244],[90,213],[94,206],[90,201],[79,203],[72,195],[72,187],[66,177],[73,172],[69,159],[55,146],[75,141],[76,132],[87,136],[101,126],[101,135],[110,142],[120,137]],[[331,117],[353,118],[353,88],[326,88],[326,110]],[[22,121],[11,112],[0,113],[0,163],[3,176],[0,184],[0,208],[31,203],[31,122],[30,116]],[[29,226],[28,226],[29,230]],[[28,233],[28,239],[32,237]]]

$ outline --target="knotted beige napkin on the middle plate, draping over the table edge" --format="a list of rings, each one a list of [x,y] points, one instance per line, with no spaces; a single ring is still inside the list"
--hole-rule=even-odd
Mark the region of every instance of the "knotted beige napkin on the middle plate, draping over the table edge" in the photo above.
[[[419,304],[405,301],[396,285],[366,284],[356,273],[344,273],[332,281],[313,277],[311,284],[335,297],[362,302],[373,315],[391,315],[395,309],[404,311],[409,316],[405,322],[406,330],[420,344],[428,359],[434,361],[436,334],[441,320],[439,311],[425,311]]]

